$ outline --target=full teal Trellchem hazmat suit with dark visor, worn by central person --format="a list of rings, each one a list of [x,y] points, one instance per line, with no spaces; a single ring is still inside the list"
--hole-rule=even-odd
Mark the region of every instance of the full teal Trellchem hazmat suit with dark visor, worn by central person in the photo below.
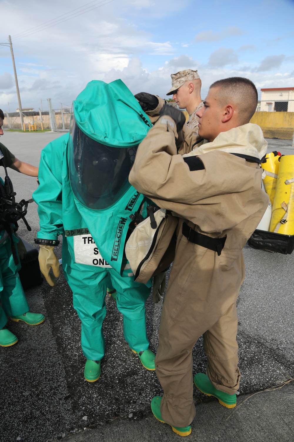
[[[63,273],[82,321],[82,351],[88,359],[104,356],[109,276],[126,341],[136,352],[149,347],[145,301],[151,282],[134,282],[124,244],[130,214],[147,206],[128,175],[151,126],[121,80],[91,81],[73,102],[70,134],[41,153],[40,186],[33,193],[40,217],[37,238],[57,240],[63,235]]]

